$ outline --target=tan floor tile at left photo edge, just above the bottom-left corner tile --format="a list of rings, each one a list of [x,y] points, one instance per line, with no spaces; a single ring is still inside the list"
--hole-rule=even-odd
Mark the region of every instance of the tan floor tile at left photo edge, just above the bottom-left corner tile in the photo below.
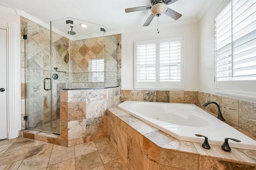
[[[0,166],[23,160],[28,152],[29,148],[19,149],[12,152],[4,152],[0,157]]]

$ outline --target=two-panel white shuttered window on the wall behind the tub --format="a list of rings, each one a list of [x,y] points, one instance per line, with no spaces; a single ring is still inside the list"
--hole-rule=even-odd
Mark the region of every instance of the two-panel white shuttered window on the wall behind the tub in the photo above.
[[[135,41],[135,88],[182,89],[183,36]]]

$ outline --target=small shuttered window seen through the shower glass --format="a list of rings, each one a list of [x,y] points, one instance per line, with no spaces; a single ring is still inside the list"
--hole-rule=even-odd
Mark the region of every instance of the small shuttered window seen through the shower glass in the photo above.
[[[104,59],[89,60],[90,82],[104,82]]]

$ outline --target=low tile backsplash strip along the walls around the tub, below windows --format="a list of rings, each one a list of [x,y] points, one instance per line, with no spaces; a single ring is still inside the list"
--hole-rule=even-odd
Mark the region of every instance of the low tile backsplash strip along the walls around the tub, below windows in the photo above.
[[[225,123],[246,135],[250,133],[256,137],[256,103],[198,91],[122,90],[121,95],[121,101],[195,104],[206,111],[210,111],[217,117],[218,108],[216,105],[209,104],[203,107],[206,102],[213,101],[220,105],[221,113],[226,119]]]

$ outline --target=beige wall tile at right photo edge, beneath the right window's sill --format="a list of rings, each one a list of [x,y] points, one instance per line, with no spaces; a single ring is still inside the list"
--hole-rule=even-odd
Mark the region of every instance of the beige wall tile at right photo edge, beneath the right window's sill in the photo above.
[[[256,137],[256,103],[239,100],[238,108],[238,126]]]

